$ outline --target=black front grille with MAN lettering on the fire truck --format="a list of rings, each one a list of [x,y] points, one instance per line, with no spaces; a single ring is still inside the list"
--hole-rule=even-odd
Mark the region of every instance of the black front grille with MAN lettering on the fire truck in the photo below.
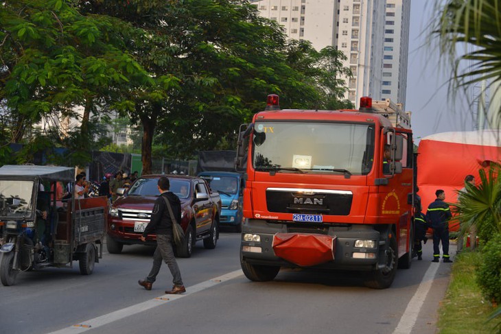
[[[349,215],[353,193],[324,189],[266,189],[268,211],[310,215]]]

